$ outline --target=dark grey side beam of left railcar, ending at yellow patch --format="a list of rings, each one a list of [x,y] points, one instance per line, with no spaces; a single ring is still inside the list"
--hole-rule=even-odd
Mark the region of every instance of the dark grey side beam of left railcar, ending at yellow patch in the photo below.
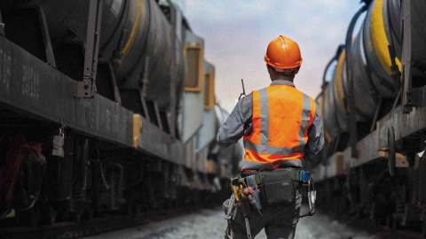
[[[75,81],[0,36],[0,104],[131,146],[132,112],[103,96],[75,99]]]

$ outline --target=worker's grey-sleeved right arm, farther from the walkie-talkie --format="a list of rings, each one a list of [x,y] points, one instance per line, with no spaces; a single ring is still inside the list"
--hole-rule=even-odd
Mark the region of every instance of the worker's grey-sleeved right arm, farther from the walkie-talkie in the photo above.
[[[324,149],[324,131],[322,129],[322,120],[318,104],[315,110],[315,117],[308,129],[308,143],[306,143],[306,148],[304,150],[304,158],[309,163],[314,163],[319,160],[322,150]]]

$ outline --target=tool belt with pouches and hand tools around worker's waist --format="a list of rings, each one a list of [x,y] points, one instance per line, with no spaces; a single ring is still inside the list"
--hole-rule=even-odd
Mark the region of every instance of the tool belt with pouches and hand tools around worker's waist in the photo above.
[[[246,223],[247,235],[251,239],[248,218],[250,217],[249,204],[262,215],[262,204],[279,206],[296,203],[297,189],[308,186],[310,212],[300,215],[299,218],[312,216],[315,213],[316,191],[313,186],[311,173],[297,168],[277,168],[273,171],[248,171],[241,173],[241,177],[231,179],[233,195],[224,202],[225,219],[228,227],[225,238],[233,238],[230,230],[230,220],[234,220],[236,204],[243,206],[243,216]],[[249,202],[249,204],[248,204]]]

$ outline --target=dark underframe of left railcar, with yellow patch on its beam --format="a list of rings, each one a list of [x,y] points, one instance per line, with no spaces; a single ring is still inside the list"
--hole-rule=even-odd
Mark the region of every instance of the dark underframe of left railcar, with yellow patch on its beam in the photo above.
[[[194,203],[200,199],[196,198],[198,192],[215,188],[212,181],[220,169],[210,166],[207,171],[197,170],[193,162],[185,161],[181,141],[104,96],[76,98],[77,82],[0,35],[0,130],[3,140],[18,132],[22,132],[28,142],[47,140],[43,154],[48,161],[56,163],[46,173],[55,174],[57,184],[50,185],[49,188],[54,189],[46,195],[41,193],[43,200],[38,201],[44,204],[42,214],[46,213],[49,200],[64,202],[47,204],[51,215],[49,223],[55,221],[56,212],[63,208],[73,212],[75,220],[80,220],[82,215],[90,218],[96,207],[111,211],[128,204],[130,212],[137,213],[141,203],[146,204],[146,208],[174,204],[179,197],[179,187],[186,192],[193,190],[192,194],[181,195],[186,197],[181,198],[185,203]],[[54,135],[59,135],[59,128],[65,132],[63,157],[52,156],[53,143],[49,143]],[[82,168],[73,169],[73,158],[83,161]],[[92,179],[82,187],[84,192],[81,188],[75,192],[72,188],[76,182],[70,175],[86,167],[91,173],[85,177]],[[101,177],[101,181],[96,177]],[[90,188],[112,190],[107,196],[102,193],[90,196]],[[90,198],[93,196],[96,200]],[[76,199],[83,199],[83,203]],[[98,205],[90,208],[88,202]],[[38,224],[38,205],[28,211],[20,218],[28,218],[32,225]]]

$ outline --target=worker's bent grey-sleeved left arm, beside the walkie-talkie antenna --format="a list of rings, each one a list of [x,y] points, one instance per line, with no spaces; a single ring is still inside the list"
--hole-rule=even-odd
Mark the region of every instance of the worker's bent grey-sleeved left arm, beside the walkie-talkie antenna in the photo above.
[[[237,143],[252,117],[253,95],[243,97],[233,108],[225,124],[217,131],[216,141],[219,146],[228,147]]]

